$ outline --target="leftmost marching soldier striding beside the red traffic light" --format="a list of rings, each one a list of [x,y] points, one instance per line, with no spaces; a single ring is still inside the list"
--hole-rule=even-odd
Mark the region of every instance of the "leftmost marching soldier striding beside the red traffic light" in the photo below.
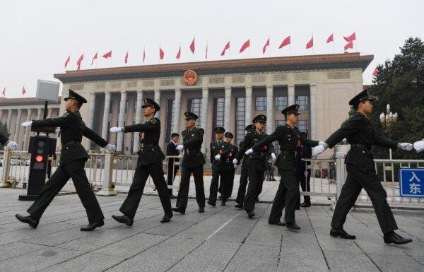
[[[95,198],[93,189],[88,182],[84,165],[88,160],[88,154],[81,145],[83,136],[86,136],[91,141],[94,141],[102,148],[106,148],[114,152],[115,146],[108,144],[102,137],[95,134],[94,131],[89,129],[84,124],[79,109],[86,103],[87,100],[78,95],[73,90],[69,90],[69,96],[64,98],[66,101],[66,112],[62,117],[49,118],[44,120],[35,120],[24,122],[22,126],[33,127],[57,127],[60,128],[61,133],[61,156],[60,166],[54,172],[52,177],[45,183],[38,199],[33,205],[28,208],[30,215],[16,215],[16,218],[23,223],[27,223],[30,227],[37,227],[38,222],[44,213],[49,203],[52,202],[54,196],[64,187],[69,178],[72,178],[73,185],[76,192],[86,208],[88,216],[88,225],[81,227],[82,231],[94,230],[96,227],[101,227],[103,223],[103,213],[100,205]]]

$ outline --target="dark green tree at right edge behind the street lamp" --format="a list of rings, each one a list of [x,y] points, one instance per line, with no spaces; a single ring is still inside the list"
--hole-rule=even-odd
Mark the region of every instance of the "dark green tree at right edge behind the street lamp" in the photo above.
[[[418,37],[410,37],[394,59],[377,66],[378,75],[373,80],[370,94],[378,97],[373,102],[370,116],[375,133],[394,141],[413,143],[424,138],[424,43]],[[389,104],[392,112],[399,114],[388,131],[384,130],[379,114],[385,113]],[[375,148],[376,158],[388,158],[387,148]],[[424,152],[396,150],[394,158],[424,159]]]

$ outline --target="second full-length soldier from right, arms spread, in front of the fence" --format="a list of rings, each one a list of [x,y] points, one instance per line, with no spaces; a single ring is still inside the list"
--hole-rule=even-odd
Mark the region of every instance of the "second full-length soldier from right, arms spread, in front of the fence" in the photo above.
[[[284,114],[285,125],[278,126],[273,134],[266,136],[259,143],[252,146],[251,149],[246,151],[246,154],[259,153],[263,146],[273,141],[278,141],[278,143],[280,143],[281,155],[277,167],[281,172],[281,180],[272,203],[268,223],[271,225],[285,225],[290,230],[300,230],[300,227],[295,221],[295,209],[298,206],[300,194],[298,178],[296,176],[296,157],[298,156],[296,148],[302,144],[305,146],[318,145],[318,141],[300,137],[300,131],[295,126],[298,124],[300,115],[298,110],[299,105],[296,104],[282,110],[281,113]],[[285,208],[285,223],[280,220],[283,208]]]

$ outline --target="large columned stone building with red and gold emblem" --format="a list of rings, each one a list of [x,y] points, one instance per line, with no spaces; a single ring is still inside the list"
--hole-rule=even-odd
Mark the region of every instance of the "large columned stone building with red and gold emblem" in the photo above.
[[[86,97],[88,104],[81,108],[83,120],[116,143],[118,152],[136,152],[138,135],[110,134],[109,128],[143,122],[145,97],[160,104],[157,117],[162,124],[162,148],[172,132],[184,130],[183,114],[190,111],[200,117],[197,125],[205,130],[206,152],[213,127],[224,126],[235,134],[238,144],[254,116],[266,114],[266,131],[272,132],[284,124],[281,110],[295,103],[300,105],[299,129],[310,138],[326,138],[348,117],[348,100],[363,90],[363,71],[372,59],[372,55],[359,53],[235,59],[66,71],[54,77],[63,83],[64,97],[69,88]],[[33,104],[24,102],[0,100],[0,120],[11,124],[11,138],[18,138],[21,146],[28,142],[28,131],[23,134],[23,129],[13,125],[34,118],[35,111],[29,113],[28,109],[42,105],[35,100]],[[63,101],[60,112],[59,104],[52,107],[49,115],[64,112]],[[87,140],[84,145],[98,149]]]

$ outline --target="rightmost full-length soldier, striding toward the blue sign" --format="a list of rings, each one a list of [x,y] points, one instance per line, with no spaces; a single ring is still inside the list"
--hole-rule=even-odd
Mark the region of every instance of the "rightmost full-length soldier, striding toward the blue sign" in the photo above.
[[[398,227],[387,203],[387,192],[375,173],[371,148],[373,145],[377,145],[410,151],[413,149],[413,145],[411,143],[397,143],[375,135],[370,119],[368,119],[368,116],[372,113],[372,101],[374,99],[374,97],[368,95],[367,90],[353,97],[349,105],[353,106],[356,113],[348,119],[346,124],[343,124],[340,129],[331,134],[325,142],[320,142],[320,145],[314,148],[312,155],[319,155],[326,148],[332,148],[343,138],[346,138],[348,143],[351,144],[351,149],[346,155],[348,176],[336,203],[336,210],[331,221],[331,236],[355,239],[354,235],[349,235],[343,230],[343,224],[346,221],[346,215],[358,199],[360,191],[365,189],[370,196],[378,223],[384,233],[384,242],[387,244],[406,244],[412,242],[412,240],[405,239],[394,232]]]

